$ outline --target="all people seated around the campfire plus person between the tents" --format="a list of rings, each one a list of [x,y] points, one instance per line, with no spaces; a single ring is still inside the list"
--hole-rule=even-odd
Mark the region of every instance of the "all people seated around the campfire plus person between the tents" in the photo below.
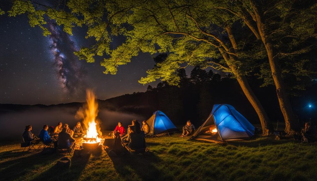
[[[59,122],[55,128],[53,126],[44,125],[38,137],[32,132],[32,126],[25,127],[23,133],[23,139],[25,142],[30,142],[35,139],[40,139],[45,145],[54,144],[54,147],[69,148],[74,145],[76,137],[83,137],[86,133],[81,126],[80,122],[77,122],[73,129],[70,129],[68,124]],[[195,126],[188,120],[183,127],[183,134],[181,137],[189,136],[195,131]],[[100,128],[97,130],[100,137],[102,133]],[[146,142],[145,137],[150,133],[150,126],[146,120],[142,121],[142,126],[138,120],[132,120],[132,124],[127,126],[127,131],[122,125],[122,122],[118,122],[116,128],[111,132],[112,138],[119,139],[123,147],[129,151],[145,151]]]

